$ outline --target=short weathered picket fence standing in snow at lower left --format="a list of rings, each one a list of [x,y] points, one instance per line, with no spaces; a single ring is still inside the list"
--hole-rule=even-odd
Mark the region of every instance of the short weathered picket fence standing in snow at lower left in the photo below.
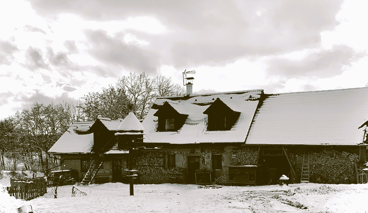
[[[6,187],[6,190],[16,199],[31,200],[47,192],[47,182],[44,177],[10,178],[10,187]]]

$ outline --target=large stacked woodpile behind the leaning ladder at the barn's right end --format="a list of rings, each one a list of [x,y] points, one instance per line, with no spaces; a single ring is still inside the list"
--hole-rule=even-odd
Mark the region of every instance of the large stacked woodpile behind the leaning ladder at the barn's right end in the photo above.
[[[295,172],[300,179],[303,154],[291,154]],[[310,182],[313,183],[356,183],[355,163],[357,154],[339,152],[333,149],[311,151]]]

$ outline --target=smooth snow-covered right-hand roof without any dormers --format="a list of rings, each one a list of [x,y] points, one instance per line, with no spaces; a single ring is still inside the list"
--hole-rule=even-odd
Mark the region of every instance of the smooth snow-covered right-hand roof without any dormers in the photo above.
[[[274,94],[257,111],[246,144],[362,143],[368,88]]]

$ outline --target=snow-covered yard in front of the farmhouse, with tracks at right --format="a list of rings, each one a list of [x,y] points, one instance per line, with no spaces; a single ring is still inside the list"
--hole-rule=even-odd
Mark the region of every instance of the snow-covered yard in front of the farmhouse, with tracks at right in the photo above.
[[[1,182],[0,182],[1,183]],[[293,184],[289,186],[129,185],[108,183],[78,186],[87,195],[72,197],[73,186],[60,186],[58,198],[51,188],[43,197],[16,200],[0,190],[0,212],[16,212],[29,204],[35,213],[89,212],[368,212],[368,185]],[[1,188],[1,187],[0,187]]]

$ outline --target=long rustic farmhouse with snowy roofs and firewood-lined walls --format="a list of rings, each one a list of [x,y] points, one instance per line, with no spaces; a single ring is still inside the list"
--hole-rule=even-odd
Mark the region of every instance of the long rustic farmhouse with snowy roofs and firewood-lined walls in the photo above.
[[[127,181],[130,154],[139,183],[264,185],[282,175],[356,183],[367,153],[367,95],[354,88],[159,97],[142,123],[133,113],[77,122],[49,153],[84,183]]]

